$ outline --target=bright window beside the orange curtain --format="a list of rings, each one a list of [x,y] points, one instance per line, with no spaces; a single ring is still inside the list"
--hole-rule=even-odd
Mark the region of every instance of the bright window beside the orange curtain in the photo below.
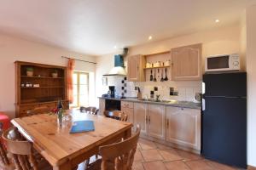
[[[88,106],[89,74],[73,71],[73,104],[71,107]]]

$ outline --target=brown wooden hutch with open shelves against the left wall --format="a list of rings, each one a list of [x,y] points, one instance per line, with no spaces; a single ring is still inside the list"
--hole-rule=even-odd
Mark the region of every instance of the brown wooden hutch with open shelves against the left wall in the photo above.
[[[15,61],[15,69],[16,117],[26,116],[27,111],[38,107],[47,107],[50,111],[56,108],[59,99],[65,109],[69,108],[66,67]],[[27,75],[28,69],[32,75]]]

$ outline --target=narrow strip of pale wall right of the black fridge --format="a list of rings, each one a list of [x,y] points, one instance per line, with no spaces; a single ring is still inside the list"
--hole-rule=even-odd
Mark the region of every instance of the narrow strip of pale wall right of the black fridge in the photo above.
[[[247,8],[247,159],[256,167],[256,5]]]

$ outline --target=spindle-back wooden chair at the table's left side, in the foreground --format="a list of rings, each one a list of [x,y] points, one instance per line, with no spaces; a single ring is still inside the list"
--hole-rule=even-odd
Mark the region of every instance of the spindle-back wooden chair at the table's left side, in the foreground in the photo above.
[[[52,169],[49,163],[42,159],[36,159],[32,143],[22,140],[14,127],[3,133],[3,141],[11,155],[17,170],[48,170]]]

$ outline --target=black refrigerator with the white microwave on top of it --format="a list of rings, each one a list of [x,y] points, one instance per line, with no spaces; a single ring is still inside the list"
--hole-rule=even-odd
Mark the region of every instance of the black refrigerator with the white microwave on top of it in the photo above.
[[[202,156],[247,167],[247,73],[203,75]]]

